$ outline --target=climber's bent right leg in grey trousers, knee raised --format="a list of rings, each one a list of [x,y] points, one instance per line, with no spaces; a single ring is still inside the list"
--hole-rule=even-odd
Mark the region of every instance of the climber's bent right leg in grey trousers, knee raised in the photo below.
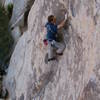
[[[59,55],[62,55],[63,51],[66,48],[66,45],[64,43],[60,43],[60,42],[57,42],[57,41],[53,41],[53,46],[55,46],[55,48],[57,48],[56,53],[59,54]]]

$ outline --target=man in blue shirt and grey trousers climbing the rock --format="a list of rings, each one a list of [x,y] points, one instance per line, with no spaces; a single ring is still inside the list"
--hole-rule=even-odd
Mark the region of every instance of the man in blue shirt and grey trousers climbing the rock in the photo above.
[[[65,14],[65,19],[59,24],[56,24],[56,17],[54,15],[48,16],[48,22],[45,27],[47,30],[47,41],[48,41],[48,61],[55,60],[54,49],[56,49],[57,55],[63,55],[63,51],[65,49],[65,44],[57,42],[57,33],[58,29],[64,27],[65,22],[67,20],[67,14]]]

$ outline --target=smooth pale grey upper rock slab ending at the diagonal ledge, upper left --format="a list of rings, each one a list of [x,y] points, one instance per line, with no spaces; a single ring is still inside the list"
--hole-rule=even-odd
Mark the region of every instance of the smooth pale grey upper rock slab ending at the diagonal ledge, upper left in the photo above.
[[[11,18],[12,27],[20,25],[24,17],[24,13],[30,9],[34,0],[14,0],[13,15]]]

